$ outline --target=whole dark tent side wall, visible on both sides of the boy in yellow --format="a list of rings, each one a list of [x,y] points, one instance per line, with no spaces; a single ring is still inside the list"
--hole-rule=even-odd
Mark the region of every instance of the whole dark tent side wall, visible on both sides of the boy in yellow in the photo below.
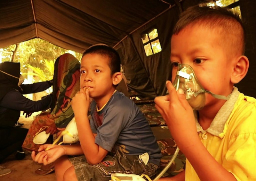
[[[253,6],[256,1],[240,0],[239,2],[247,34],[245,55],[250,60],[250,67],[247,76],[235,86],[245,95],[256,97],[256,6]],[[171,79],[171,32],[178,20],[180,11],[198,3],[200,3],[199,0],[181,1],[179,6],[172,7],[161,16],[139,28],[117,46],[123,59],[126,78],[129,80],[129,89],[150,98],[166,94],[165,82]],[[150,27],[157,28],[162,51],[147,57],[141,35]],[[133,43],[135,46],[133,46]]]

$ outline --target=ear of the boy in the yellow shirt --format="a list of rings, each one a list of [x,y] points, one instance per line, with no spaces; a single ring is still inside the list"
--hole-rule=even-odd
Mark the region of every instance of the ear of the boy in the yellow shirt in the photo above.
[[[231,75],[231,82],[233,84],[239,83],[242,80],[248,71],[249,60],[246,56],[242,55],[235,59],[234,67]]]

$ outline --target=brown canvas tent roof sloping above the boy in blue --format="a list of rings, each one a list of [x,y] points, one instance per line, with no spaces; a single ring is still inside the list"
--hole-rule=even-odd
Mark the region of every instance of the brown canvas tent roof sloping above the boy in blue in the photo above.
[[[0,47],[42,38],[82,52],[114,46],[174,5],[174,0],[1,0]]]

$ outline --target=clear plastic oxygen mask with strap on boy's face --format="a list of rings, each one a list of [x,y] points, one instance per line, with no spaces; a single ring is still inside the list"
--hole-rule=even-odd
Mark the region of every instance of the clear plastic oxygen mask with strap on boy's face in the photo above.
[[[226,97],[205,90],[195,76],[192,67],[187,64],[178,64],[173,85],[176,88],[176,91],[178,89],[182,89],[184,91],[186,100],[189,102],[193,110],[200,110],[205,106],[205,93],[223,100],[228,100],[230,97],[230,95]]]

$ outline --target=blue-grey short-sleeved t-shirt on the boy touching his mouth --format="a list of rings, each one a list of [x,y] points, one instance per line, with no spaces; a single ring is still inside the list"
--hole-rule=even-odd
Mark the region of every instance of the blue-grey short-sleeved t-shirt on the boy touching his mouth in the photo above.
[[[91,103],[90,126],[97,133],[95,143],[111,152],[122,154],[148,153],[150,163],[160,165],[161,151],[149,123],[136,104],[121,92],[115,92],[99,112]]]

